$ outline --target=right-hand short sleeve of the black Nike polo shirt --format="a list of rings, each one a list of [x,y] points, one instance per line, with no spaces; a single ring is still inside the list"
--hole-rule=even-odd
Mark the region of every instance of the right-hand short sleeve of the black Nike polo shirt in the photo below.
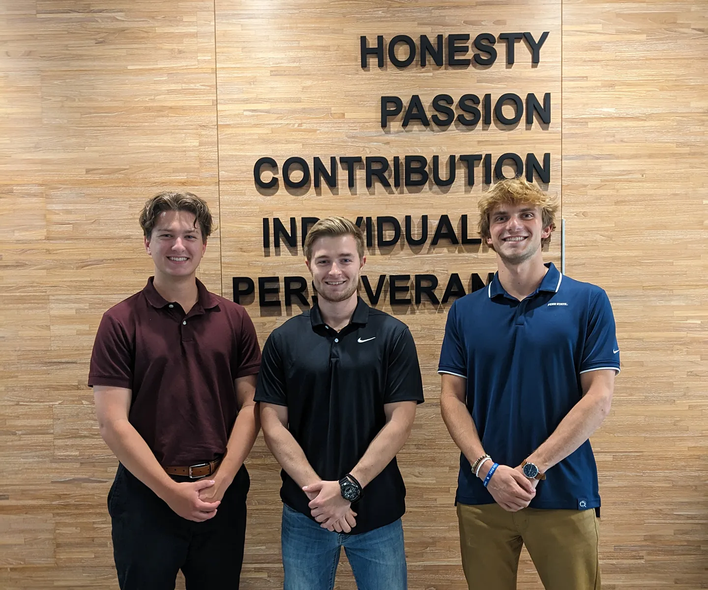
[[[407,327],[389,351],[384,404],[394,402],[423,402],[423,378],[418,364],[418,351]]]

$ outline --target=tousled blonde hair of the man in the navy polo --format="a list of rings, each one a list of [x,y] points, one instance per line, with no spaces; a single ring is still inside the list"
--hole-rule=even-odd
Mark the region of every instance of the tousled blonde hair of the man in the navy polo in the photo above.
[[[489,233],[489,215],[491,215],[493,210],[499,205],[524,205],[525,203],[541,209],[543,227],[550,227],[551,232],[556,229],[557,201],[549,197],[535,184],[518,176],[517,178],[499,181],[491,188],[489,193],[486,193],[479,200],[479,225],[477,225],[477,229],[484,243],[486,244],[487,239],[491,237]],[[549,235],[549,237],[541,240],[541,244],[545,245],[550,241],[551,236]]]

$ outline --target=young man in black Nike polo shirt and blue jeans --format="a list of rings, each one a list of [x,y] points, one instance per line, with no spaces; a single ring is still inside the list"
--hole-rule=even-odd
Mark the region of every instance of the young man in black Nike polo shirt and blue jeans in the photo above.
[[[396,453],[423,402],[408,327],[357,296],[361,230],[317,222],[304,244],[317,291],[311,310],[263,347],[256,401],[282,465],[285,590],[330,590],[344,547],[360,590],[406,586]]]

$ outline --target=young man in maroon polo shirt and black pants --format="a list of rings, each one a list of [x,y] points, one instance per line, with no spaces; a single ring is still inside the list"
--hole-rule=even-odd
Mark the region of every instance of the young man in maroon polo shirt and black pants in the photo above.
[[[154,277],[105,312],[91,356],[101,436],[120,464],[108,493],[122,590],[239,587],[261,363],[243,307],[195,273],[212,216],[191,193],[140,215]]]

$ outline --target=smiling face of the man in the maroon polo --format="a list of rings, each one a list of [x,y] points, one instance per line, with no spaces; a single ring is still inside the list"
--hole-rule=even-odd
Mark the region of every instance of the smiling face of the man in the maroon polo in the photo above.
[[[161,212],[150,237],[145,238],[155,276],[162,280],[194,276],[206,249],[195,215],[188,211]]]

